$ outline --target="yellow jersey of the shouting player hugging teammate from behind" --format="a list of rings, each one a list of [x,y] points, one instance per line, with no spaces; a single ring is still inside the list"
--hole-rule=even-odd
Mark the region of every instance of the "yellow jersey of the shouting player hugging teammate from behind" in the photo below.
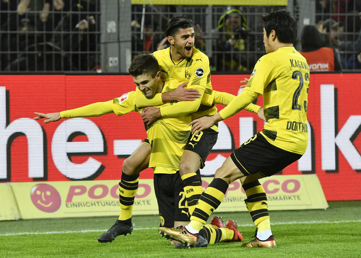
[[[173,79],[178,82],[188,80],[189,88],[198,85],[204,88],[201,104],[198,110],[192,114],[193,120],[217,113],[217,108],[213,104],[214,96],[212,96],[213,90],[210,82],[209,59],[204,53],[193,47],[192,57],[176,63],[171,59],[170,47],[158,50],[153,55],[158,60],[159,69],[162,72],[162,80],[168,81]]]

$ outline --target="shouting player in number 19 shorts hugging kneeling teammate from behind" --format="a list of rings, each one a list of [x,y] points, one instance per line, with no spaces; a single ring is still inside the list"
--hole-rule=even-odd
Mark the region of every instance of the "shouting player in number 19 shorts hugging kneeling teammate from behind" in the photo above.
[[[135,94],[135,105],[139,108],[161,105],[166,102],[172,104],[159,109],[146,108],[143,112],[144,120],[150,125],[160,117],[160,114],[162,117],[172,117],[195,112],[192,114],[192,119],[216,114],[217,109],[214,103],[226,105],[234,96],[212,90],[208,57],[193,48],[194,30],[192,20],[185,16],[173,17],[167,23],[165,33],[171,47],[153,53],[160,65],[162,79],[164,81],[176,79],[178,82],[188,80],[188,88],[195,88],[199,93],[191,92],[187,97],[180,97],[182,102],[174,98],[175,91],[165,91],[156,94],[152,98],[147,98],[149,89],[140,84]],[[199,94],[201,97],[197,98]],[[260,117],[263,115],[262,108],[257,105],[250,104],[245,109],[257,113]],[[216,143],[217,134],[218,128],[213,126],[200,134],[191,136],[181,158],[179,169],[190,214],[202,193],[201,180],[197,173],[199,173],[199,168],[203,168],[206,157]],[[121,182],[135,182],[138,180],[139,172],[148,167],[147,163],[140,160],[139,157],[148,157],[151,152],[152,148],[149,144],[141,144],[123,162]],[[126,180],[123,180],[123,176]],[[131,232],[129,225],[131,224],[132,200],[134,200],[135,192],[136,188],[132,192],[119,192],[121,200],[128,201],[121,203],[119,219],[107,232],[98,238],[99,241],[112,241],[116,236]],[[161,221],[164,223],[163,216],[160,215]],[[125,226],[125,224],[128,226]],[[125,228],[129,229],[126,230]]]

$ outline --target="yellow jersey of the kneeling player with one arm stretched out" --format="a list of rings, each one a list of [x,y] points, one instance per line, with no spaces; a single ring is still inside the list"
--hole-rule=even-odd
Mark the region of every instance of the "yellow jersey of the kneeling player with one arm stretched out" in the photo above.
[[[165,82],[162,92],[174,90],[178,87],[177,81]],[[135,91],[127,92],[119,98],[105,102],[97,102],[81,108],[61,111],[61,118],[73,117],[95,117],[109,113],[118,116],[140,109],[134,104]],[[162,104],[160,107],[171,106],[174,101]],[[151,126],[145,126],[149,143],[152,146],[152,153],[149,167],[154,168],[155,173],[173,174],[179,170],[179,161],[183,155],[184,147],[190,135],[191,115],[184,114],[174,117],[162,117]]]

